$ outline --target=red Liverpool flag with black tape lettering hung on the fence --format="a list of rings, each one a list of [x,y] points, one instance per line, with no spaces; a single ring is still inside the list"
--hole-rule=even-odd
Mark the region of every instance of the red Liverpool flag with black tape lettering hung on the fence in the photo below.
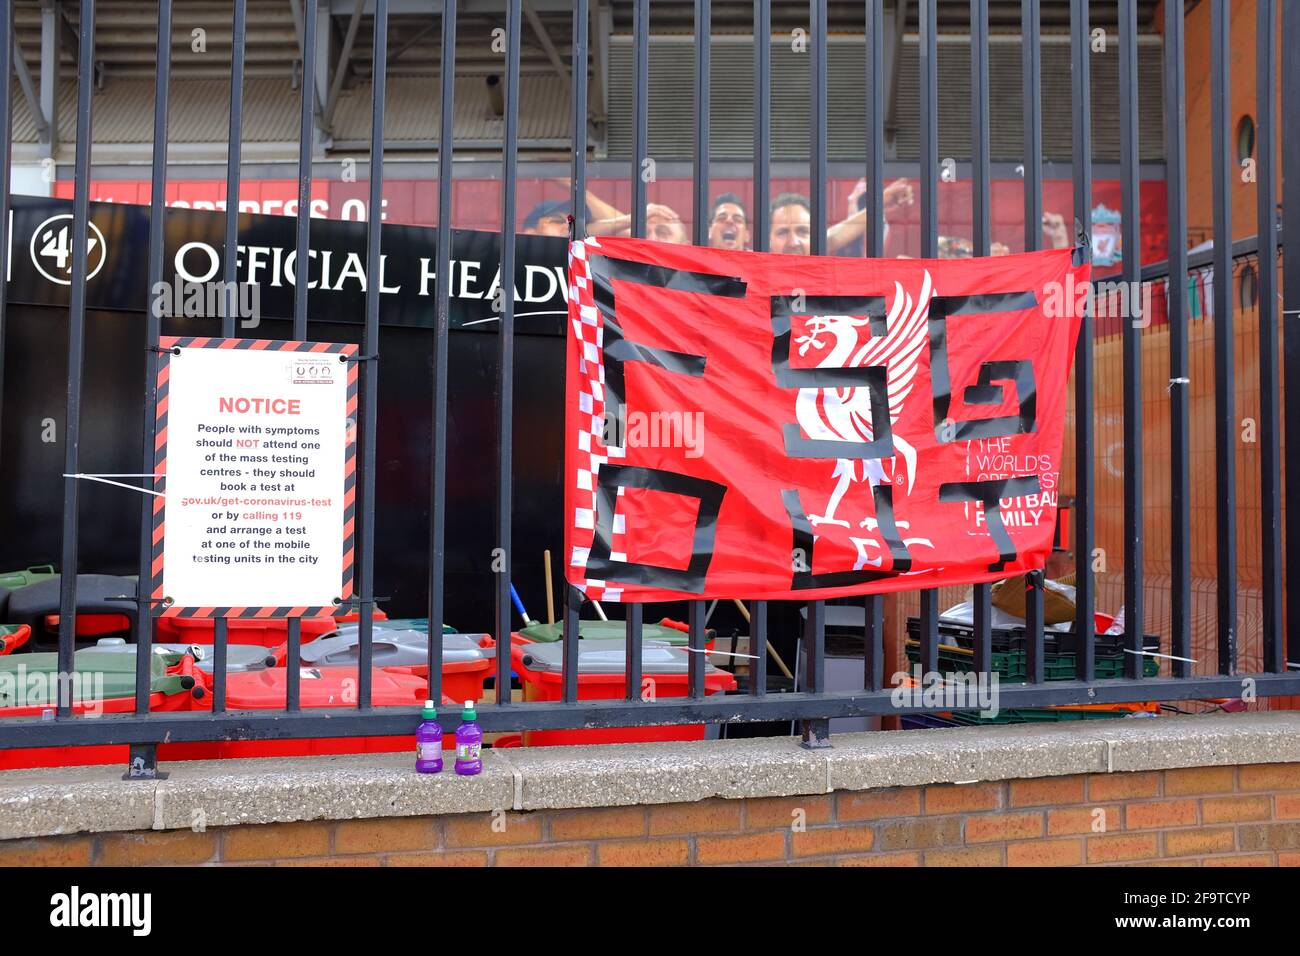
[[[1071,250],[573,243],[567,580],[806,600],[1041,567],[1087,278]]]

